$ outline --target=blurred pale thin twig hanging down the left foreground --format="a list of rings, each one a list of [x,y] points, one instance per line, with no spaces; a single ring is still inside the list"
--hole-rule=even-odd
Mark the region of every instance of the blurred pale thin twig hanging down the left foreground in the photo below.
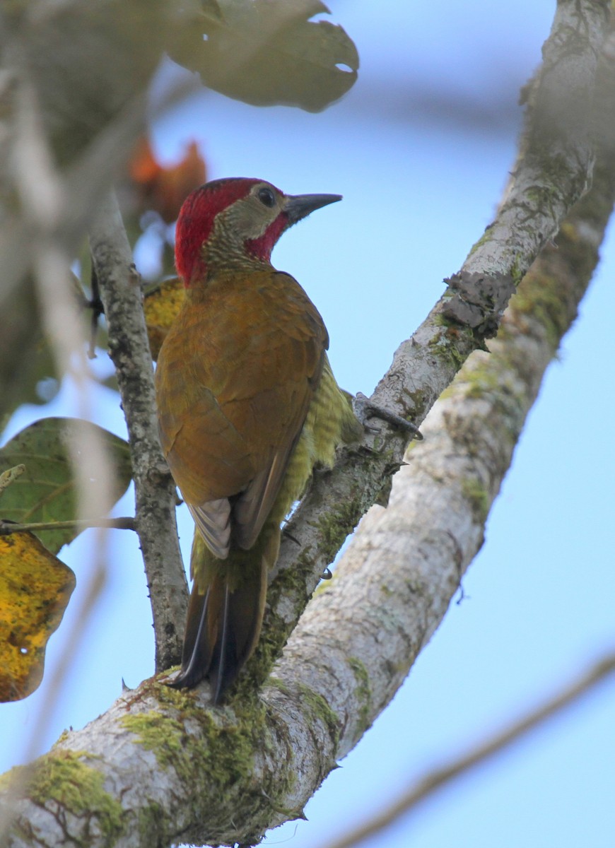
[[[30,230],[30,260],[36,279],[42,325],[58,365],[59,373],[69,377],[78,389],[77,415],[91,418],[91,379],[85,361],[85,336],[70,285],[70,255],[55,237],[58,221],[64,213],[64,181],[54,165],[53,153],[43,129],[42,110],[27,63],[18,45],[12,45],[14,61],[14,137],[11,165],[15,188],[19,193],[25,226]],[[96,432],[87,435],[76,429],[69,440],[72,472],[75,477],[77,513],[80,516],[108,511],[111,497],[111,463],[102,438]],[[87,463],[83,457],[87,456]],[[90,485],[90,475],[97,486]],[[41,747],[43,734],[58,705],[62,684],[81,644],[81,634],[89,619],[107,575],[107,535],[101,528],[92,540],[92,567],[81,594],[81,608],[75,615],[67,648],[48,679],[47,697],[38,711],[25,750],[27,759]],[[16,780],[14,791],[27,784],[27,774]],[[0,841],[10,827],[13,812],[5,808],[0,815]]]

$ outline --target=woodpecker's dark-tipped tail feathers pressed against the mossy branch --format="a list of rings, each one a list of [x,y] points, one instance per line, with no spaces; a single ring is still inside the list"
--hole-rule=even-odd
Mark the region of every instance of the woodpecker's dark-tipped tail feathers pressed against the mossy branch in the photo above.
[[[209,678],[214,703],[220,702],[258,642],[267,572],[279,544],[279,527],[265,527],[254,548],[231,550],[218,560],[195,534],[182,671],[172,686],[188,688]]]

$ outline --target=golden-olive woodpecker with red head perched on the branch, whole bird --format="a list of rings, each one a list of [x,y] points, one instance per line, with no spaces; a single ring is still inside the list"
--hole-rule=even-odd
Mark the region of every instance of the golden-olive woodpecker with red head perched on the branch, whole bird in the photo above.
[[[316,465],[362,427],[327,360],[327,329],[271,265],[282,232],[337,194],[215,180],[176,228],[187,297],[159,353],[159,432],[196,523],[193,589],[175,686],[209,678],[214,700],[259,639],[280,525]]]

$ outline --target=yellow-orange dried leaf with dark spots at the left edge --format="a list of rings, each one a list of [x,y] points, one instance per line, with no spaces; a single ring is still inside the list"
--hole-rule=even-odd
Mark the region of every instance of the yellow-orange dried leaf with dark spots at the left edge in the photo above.
[[[75,575],[32,533],[0,536],[0,700],[31,695]]]

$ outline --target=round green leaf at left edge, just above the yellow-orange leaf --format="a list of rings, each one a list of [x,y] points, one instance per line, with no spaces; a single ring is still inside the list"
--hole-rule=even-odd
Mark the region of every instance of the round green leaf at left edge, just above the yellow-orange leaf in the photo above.
[[[113,497],[120,499],[131,482],[128,444],[102,427],[77,418],[43,418],[25,427],[0,449],[0,473],[23,464],[24,473],[3,492],[0,517],[20,524],[66,522],[76,518],[75,478],[68,444],[77,432],[98,434],[113,463]],[[80,460],[87,466],[87,455]],[[89,475],[92,494],[98,480]],[[99,518],[101,516],[87,516]],[[63,544],[80,533],[76,528],[42,530],[38,535],[48,549],[57,553]]]

